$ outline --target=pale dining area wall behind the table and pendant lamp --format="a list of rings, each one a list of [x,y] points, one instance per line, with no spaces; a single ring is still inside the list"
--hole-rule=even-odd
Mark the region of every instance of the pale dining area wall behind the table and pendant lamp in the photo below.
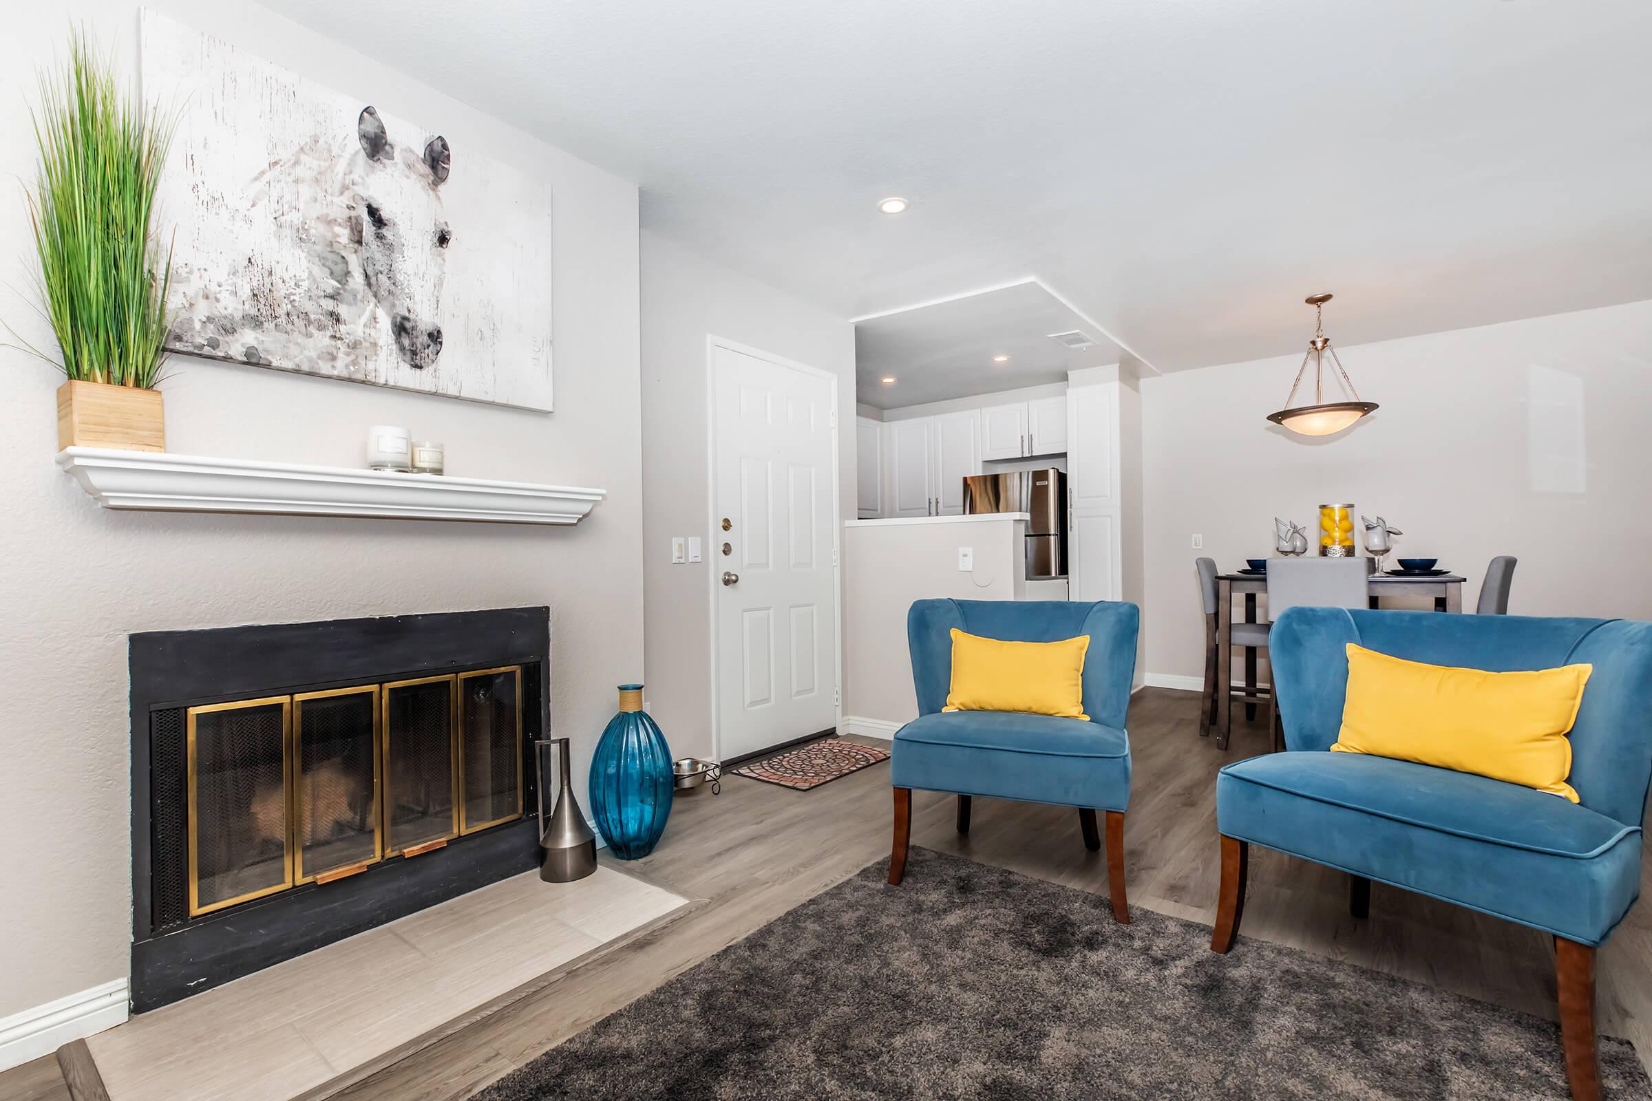
[[[1652,302],[1340,348],[1381,409],[1322,439],[1264,419],[1298,353],[1143,380],[1148,670],[1203,675],[1194,558],[1267,556],[1274,517],[1312,530],[1322,502],[1467,576],[1465,609],[1517,555],[1513,614],[1652,619],[1649,348]]]

